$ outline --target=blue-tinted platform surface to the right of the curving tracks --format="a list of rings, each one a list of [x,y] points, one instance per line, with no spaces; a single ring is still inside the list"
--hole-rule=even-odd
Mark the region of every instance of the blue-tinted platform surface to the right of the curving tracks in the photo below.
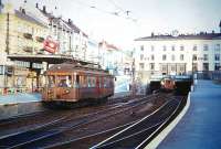
[[[157,149],[220,149],[221,85],[198,81],[190,107]]]

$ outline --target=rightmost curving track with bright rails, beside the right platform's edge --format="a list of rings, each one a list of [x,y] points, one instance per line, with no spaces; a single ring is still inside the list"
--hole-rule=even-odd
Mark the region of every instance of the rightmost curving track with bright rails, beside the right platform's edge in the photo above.
[[[93,146],[91,149],[145,148],[145,145],[147,145],[150,139],[159,132],[158,130],[160,130],[176,115],[182,100],[170,99],[154,114]]]

